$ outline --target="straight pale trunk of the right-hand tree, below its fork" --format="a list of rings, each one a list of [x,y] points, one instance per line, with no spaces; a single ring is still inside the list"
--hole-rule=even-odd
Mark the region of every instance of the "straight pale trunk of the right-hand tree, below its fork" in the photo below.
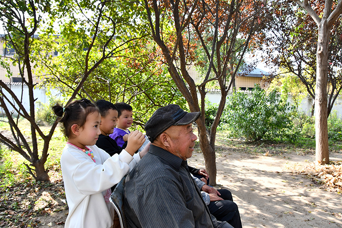
[[[327,77],[328,77],[328,45],[329,28],[326,20],[322,20],[318,29],[317,71],[315,94],[315,128],[316,128],[316,161],[329,164],[328,121],[327,121]]]

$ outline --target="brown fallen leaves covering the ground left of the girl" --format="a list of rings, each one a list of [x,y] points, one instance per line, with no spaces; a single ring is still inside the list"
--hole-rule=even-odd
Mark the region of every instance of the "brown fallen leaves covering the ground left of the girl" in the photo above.
[[[0,227],[35,228],[38,216],[67,211],[63,180],[56,172],[50,176],[50,183],[27,180],[0,188]]]

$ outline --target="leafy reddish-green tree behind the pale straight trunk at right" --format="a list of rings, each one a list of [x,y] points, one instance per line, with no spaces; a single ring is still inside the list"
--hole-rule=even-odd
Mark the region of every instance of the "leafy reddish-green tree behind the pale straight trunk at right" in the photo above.
[[[307,93],[315,99],[316,52],[318,28],[312,18],[303,9],[291,1],[273,3],[273,13],[266,25],[267,47],[264,58],[267,62],[282,69],[271,78],[286,77],[287,72],[295,74],[305,85]],[[323,3],[317,2],[316,10],[322,13]],[[341,19],[332,26],[328,52],[328,116],[342,89],[341,74]],[[266,62],[265,61],[265,62]],[[314,105],[312,115],[314,113]]]

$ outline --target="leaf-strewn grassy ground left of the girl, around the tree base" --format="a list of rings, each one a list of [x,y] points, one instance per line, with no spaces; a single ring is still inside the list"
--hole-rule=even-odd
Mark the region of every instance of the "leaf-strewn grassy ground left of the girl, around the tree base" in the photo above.
[[[25,123],[23,126],[28,127]],[[43,140],[38,141],[38,145],[42,148]],[[0,151],[0,227],[36,228],[40,226],[37,216],[67,211],[60,166],[64,145],[65,138],[56,129],[45,162],[50,183],[36,182],[23,165],[29,162],[18,152],[8,149]]]

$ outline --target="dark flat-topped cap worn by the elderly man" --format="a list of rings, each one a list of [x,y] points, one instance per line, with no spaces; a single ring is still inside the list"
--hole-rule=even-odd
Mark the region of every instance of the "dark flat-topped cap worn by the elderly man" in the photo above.
[[[186,112],[177,104],[158,108],[145,124],[146,135],[153,142],[155,138],[172,125],[186,125],[195,122],[201,112]]]

